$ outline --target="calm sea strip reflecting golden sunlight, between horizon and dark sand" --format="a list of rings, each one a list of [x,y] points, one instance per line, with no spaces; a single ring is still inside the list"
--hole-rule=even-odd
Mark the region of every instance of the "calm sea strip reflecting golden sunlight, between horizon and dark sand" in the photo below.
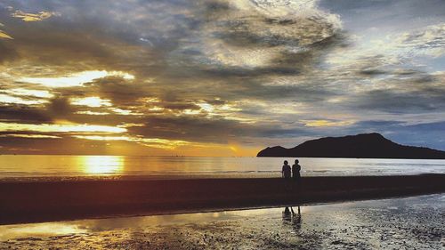
[[[271,178],[293,157],[126,157],[0,155],[0,181]],[[302,176],[445,173],[445,160],[298,158]]]

